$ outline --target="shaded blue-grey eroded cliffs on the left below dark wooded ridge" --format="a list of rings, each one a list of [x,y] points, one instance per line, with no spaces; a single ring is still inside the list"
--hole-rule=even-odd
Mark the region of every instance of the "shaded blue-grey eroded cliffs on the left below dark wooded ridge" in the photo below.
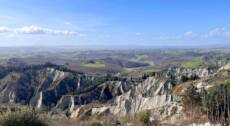
[[[105,103],[134,82],[89,76],[55,65],[6,68],[0,78],[0,103],[73,111],[75,106]]]

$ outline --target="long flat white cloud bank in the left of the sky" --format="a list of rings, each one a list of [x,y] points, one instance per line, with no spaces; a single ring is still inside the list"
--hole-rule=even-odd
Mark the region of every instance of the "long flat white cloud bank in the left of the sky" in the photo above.
[[[24,26],[20,28],[0,27],[0,33],[82,35],[74,31],[51,29],[51,28],[39,27],[35,25]]]

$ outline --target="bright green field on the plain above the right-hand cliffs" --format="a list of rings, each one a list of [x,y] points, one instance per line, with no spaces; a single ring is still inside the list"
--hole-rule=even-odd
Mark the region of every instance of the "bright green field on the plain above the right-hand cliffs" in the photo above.
[[[181,66],[184,68],[198,68],[200,65],[203,64],[203,61],[201,59],[191,60],[191,61],[184,61],[181,63]]]

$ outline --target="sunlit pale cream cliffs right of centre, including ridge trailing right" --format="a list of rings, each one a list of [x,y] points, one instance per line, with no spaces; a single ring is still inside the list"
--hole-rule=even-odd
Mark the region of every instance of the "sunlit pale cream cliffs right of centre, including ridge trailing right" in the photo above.
[[[165,76],[149,77],[123,95],[117,96],[110,110],[119,115],[162,108],[167,110],[177,104],[177,96],[172,93],[175,85],[181,81],[207,77],[212,73],[208,69],[169,68],[163,74]]]

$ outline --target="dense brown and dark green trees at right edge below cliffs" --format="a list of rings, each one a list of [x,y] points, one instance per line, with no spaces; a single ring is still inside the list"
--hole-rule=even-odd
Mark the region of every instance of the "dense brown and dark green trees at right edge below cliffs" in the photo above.
[[[182,98],[185,111],[191,116],[202,113],[211,122],[218,122],[226,125],[230,119],[230,85],[219,84],[209,90],[196,91],[190,87]],[[192,112],[191,112],[192,111]]]

